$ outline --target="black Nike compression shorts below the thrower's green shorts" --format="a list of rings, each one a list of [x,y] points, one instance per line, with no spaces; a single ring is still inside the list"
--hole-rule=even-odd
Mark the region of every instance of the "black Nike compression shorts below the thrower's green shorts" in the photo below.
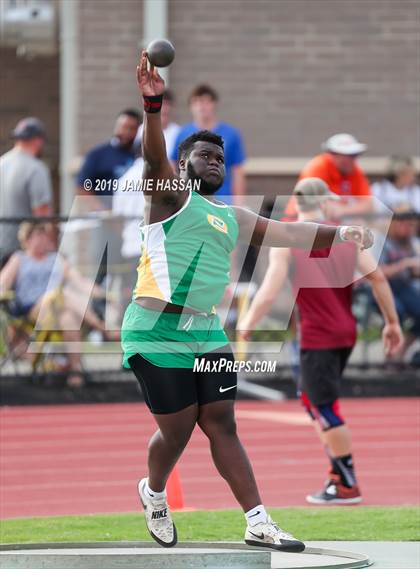
[[[140,354],[128,359],[153,414],[176,413],[195,403],[205,405],[236,398],[238,379],[231,350],[207,352],[197,360],[204,360],[202,371],[158,367]]]

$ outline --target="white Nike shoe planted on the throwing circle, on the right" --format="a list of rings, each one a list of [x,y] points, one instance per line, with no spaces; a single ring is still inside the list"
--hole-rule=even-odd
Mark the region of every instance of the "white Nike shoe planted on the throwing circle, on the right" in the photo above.
[[[248,526],[245,530],[245,543],[258,547],[269,547],[276,551],[298,553],[305,549],[305,544],[286,533],[268,516],[266,522]]]

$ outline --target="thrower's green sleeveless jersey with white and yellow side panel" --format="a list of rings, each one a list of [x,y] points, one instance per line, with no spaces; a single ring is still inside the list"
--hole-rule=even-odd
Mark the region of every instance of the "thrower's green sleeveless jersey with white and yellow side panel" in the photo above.
[[[190,192],[174,215],[142,227],[133,298],[151,296],[199,312],[214,311],[229,284],[238,229],[232,207]]]

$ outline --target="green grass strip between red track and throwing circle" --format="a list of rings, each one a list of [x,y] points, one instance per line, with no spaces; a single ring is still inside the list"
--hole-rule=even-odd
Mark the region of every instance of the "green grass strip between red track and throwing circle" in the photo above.
[[[304,541],[415,541],[416,507],[281,508],[272,517]],[[180,541],[241,541],[245,523],[239,510],[175,513]],[[150,540],[142,513],[0,522],[1,543]]]

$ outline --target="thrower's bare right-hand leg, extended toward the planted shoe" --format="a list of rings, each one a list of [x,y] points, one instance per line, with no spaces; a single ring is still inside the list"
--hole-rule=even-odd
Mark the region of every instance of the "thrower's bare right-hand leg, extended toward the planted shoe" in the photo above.
[[[217,470],[229,484],[244,512],[261,504],[251,463],[236,432],[234,401],[201,405],[198,424],[209,438]]]

